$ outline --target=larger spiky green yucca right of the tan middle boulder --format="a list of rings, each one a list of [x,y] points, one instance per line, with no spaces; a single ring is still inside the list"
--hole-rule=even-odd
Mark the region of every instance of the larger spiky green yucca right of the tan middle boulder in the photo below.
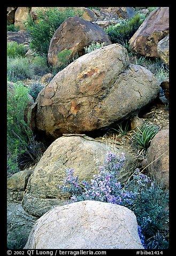
[[[134,131],[132,141],[135,147],[139,148],[140,154],[145,153],[150,146],[151,140],[154,138],[160,128],[150,123],[143,123]]]

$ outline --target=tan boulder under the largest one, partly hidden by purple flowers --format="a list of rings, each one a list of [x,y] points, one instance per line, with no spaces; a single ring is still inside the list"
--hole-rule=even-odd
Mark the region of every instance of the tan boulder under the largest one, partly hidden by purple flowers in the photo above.
[[[111,150],[116,155],[125,153],[126,162],[121,169],[119,181],[125,182],[134,172],[137,162],[131,154],[121,148],[108,146],[87,136],[70,135],[55,140],[44,152],[42,158],[29,177],[26,192],[22,200],[24,209],[40,217],[51,209],[52,205],[62,205],[70,198],[60,193],[58,185],[63,184],[67,168],[74,168],[79,180],[90,181],[103,165],[106,153]]]

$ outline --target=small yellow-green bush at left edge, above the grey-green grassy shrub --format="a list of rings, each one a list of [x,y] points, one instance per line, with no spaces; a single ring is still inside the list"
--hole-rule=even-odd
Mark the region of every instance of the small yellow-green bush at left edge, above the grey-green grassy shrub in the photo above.
[[[27,52],[26,46],[18,44],[17,42],[7,43],[7,56],[10,58],[16,58],[18,56],[25,56]]]

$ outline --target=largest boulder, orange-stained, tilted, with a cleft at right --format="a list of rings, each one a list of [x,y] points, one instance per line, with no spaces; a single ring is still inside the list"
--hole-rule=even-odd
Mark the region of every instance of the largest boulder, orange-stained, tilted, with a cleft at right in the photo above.
[[[105,46],[53,77],[32,106],[31,127],[54,139],[64,133],[104,131],[138,112],[158,93],[157,77],[129,65],[123,46]]]

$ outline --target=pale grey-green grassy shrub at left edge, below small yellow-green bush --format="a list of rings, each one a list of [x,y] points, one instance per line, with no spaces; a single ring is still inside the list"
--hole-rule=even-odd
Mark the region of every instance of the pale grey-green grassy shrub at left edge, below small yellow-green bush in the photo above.
[[[7,80],[17,82],[19,80],[32,79],[34,70],[28,59],[24,57],[7,57]]]

